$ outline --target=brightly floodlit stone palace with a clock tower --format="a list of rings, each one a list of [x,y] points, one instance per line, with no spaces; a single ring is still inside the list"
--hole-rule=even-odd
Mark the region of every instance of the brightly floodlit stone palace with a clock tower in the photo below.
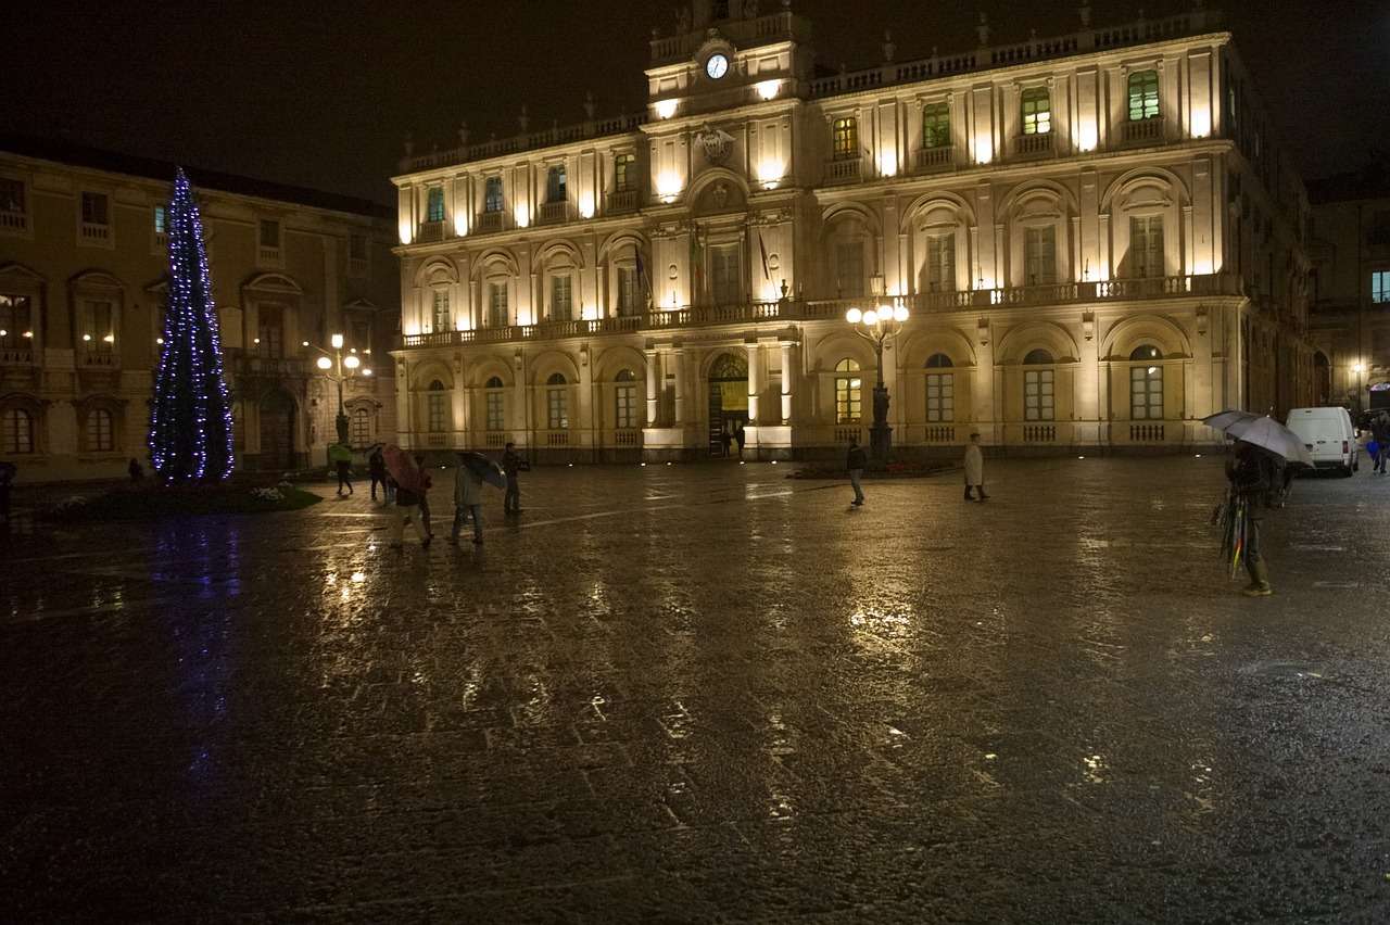
[[[539,460],[1177,449],[1311,390],[1307,196],[1219,17],[817,74],[788,4],[695,3],[648,111],[411,156],[402,442]],[[527,131],[525,117],[521,118]],[[955,450],[951,449],[954,453]]]

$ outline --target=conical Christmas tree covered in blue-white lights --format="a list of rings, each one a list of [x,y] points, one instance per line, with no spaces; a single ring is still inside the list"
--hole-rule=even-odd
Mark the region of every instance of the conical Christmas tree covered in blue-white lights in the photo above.
[[[225,479],[232,474],[232,404],[222,381],[203,219],[182,169],[174,179],[168,235],[168,306],[150,411],[150,460],[170,483]]]

